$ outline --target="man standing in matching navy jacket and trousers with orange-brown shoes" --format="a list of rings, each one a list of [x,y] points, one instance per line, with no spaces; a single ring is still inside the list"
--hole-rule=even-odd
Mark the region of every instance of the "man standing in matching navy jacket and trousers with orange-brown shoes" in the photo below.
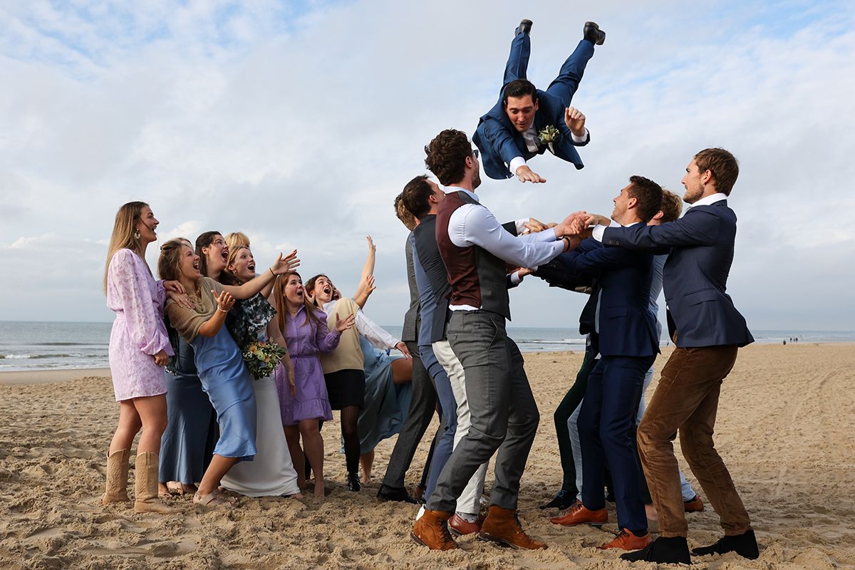
[[[633,176],[614,198],[611,214],[622,226],[643,226],[659,211],[662,186]],[[653,256],[646,252],[605,248],[593,239],[575,241],[575,249],[557,260],[569,273],[598,275],[594,329],[599,355],[587,379],[579,413],[582,454],[582,500],[552,519],[564,526],[602,525],[604,471],[608,465],[615,491],[620,533],[600,549],[643,549],[652,542],[641,497],[640,465],[632,435],[641,386],[659,352],[656,319],[648,309]]]

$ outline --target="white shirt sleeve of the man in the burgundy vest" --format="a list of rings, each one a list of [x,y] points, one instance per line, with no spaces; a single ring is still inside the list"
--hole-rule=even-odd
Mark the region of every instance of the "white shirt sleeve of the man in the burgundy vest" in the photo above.
[[[546,235],[540,241],[533,239],[541,233]],[[564,250],[563,241],[555,241],[555,232],[516,238],[505,231],[490,210],[476,204],[463,204],[451,214],[448,235],[457,247],[478,245],[516,267],[543,265]]]

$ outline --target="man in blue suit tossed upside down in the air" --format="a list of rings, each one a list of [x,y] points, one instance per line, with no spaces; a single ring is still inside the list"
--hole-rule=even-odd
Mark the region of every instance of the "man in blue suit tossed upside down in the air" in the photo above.
[[[581,168],[582,161],[575,147],[588,144],[591,138],[585,128],[585,115],[569,105],[585,66],[593,56],[593,46],[603,44],[605,32],[594,22],[586,22],[584,39],[564,62],[557,78],[546,91],[540,91],[526,79],[531,26],[530,20],[523,20],[516,28],[504,69],[501,97],[481,117],[472,137],[472,142],[481,150],[484,172],[492,179],[506,179],[516,174],[522,182],[545,182],[532,172],[526,161],[547,149]],[[557,129],[557,138],[551,143],[539,138],[539,133],[547,126]]]

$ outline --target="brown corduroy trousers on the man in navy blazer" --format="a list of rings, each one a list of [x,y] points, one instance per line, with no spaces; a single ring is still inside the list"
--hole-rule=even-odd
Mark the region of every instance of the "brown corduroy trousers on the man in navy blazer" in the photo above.
[[[712,441],[718,396],[734,367],[737,347],[675,349],[662,370],[638,429],[641,465],[659,519],[659,535],[685,537],[680,476],[674,455],[679,430],[683,456],[721,520],[726,535],[751,528],[728,468]]]

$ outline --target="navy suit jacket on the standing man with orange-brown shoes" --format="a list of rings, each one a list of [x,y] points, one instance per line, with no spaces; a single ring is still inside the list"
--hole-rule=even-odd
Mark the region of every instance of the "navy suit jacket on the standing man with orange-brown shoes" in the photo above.
[[[604,248],[589,238],[556,259],[568,273],[599,274],[591,297],[593,303],[599,298],[599,353],[602,356],[658,354],[656,319],[648,309],[652,254]]]

